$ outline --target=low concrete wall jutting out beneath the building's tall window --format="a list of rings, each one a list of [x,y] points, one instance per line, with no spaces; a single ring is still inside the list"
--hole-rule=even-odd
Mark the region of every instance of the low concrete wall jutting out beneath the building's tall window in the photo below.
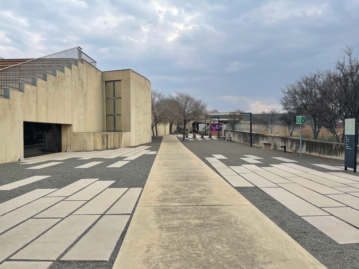
[[[73,132],[71,151],[106,150],[131,146],[131,132]]]

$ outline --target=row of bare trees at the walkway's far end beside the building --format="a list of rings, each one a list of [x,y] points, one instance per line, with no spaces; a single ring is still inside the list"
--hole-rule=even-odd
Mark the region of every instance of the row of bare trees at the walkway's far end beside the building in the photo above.
[[[164,95],[158,89],[152,90],[151,94],[151,110],[152,123],[151,129],[154,134],[154,128],[157,132],[157,124],[169,123],[169,132],[172,133],[172,127],[183,123],[184,128],[186,124],[191,121],[198,121],[205,117],[207,113],[207,104],[201,100],[196,99],[187,92],[175,92],[172,95]],[[183,132],[183,140],[185,140],[185,132]]]

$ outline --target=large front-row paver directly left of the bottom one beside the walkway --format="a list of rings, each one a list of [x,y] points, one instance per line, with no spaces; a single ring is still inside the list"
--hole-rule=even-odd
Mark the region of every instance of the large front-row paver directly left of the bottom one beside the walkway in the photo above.
[[[98,217],[99,215],[71,215],[11,259],[56,260]]]

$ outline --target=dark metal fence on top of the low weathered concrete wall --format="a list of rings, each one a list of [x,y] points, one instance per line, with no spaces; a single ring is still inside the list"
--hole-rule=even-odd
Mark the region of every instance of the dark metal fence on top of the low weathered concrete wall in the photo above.
[[[226,128],[232,129],[230,124],[227,124]],[[359,124],[357,128],[359,128]],[[249,132],[250,123],[235,123],[233,129],[237,131]],[[299,124],[252,123],[252,132],[299,138]],[[302,124],[302,138],[310,139],[310,140],[344,143],[344,123]]]

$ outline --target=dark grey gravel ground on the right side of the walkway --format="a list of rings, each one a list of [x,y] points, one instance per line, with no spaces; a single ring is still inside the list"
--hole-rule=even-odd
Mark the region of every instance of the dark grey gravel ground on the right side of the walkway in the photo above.
[[[332,166],[340,166],[344,164],[344,161],[341,160],[308,154],[303,154],[302,160],[300,160],[299,153],[284,153],[280,150],[263,150],[260,147],[250,147],[247,144],[237,142],[231,143],[229,141],[213,139],[202,141],[188,141],[188,139],[186,139],[185,141],[182,141],[182,137],[179,138],[179,140],[208,165],[209,163],[205,160],[205,157],[213,157],[212,154],[222,154],[227,157],[228,159],[221,159],[227,166],[249,164],[248,162],[239,159],[245,157],[243,155],[255,155],[264,158],[264,160],[259,160],[263,162],[262,164],[255,164],[257,166],[280,164],[284,161],[279,161],[271,157],[284,157],[299,161],[295,162],[295,164],[323,172],[330,172],[331,170],[312,164],[327,164]],[[209,167],[219,174],[213,166],[209,165]],[[346,173],[353,172],[347,171]],[[338,244],[297,214],[283,206],[283,204],[263,192],[260,188],[240,187],[235,189],[328,269],[359,268],[359,244]]]

